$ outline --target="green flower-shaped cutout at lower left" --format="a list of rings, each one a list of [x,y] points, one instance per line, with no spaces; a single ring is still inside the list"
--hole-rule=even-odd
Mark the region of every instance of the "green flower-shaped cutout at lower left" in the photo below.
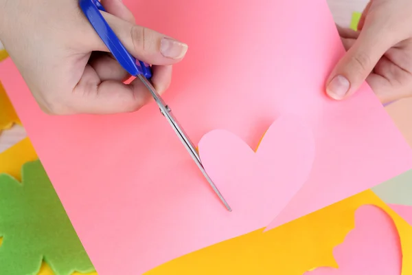
[[[22,179],[0,175],[0,274],[36,275],[42,261],[56,275],[94,271],[41,162]]]

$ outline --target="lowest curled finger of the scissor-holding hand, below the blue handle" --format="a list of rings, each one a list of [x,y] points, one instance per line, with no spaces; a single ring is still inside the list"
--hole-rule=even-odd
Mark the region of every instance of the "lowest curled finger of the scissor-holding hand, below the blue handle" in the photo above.
[[[136,78],[126,85],[115,80],[100,82],[93,67],[87,65],[73,93],[65,98],[66,109],[59,114],[109,114],[137,111],[150,100],[144,84]]]

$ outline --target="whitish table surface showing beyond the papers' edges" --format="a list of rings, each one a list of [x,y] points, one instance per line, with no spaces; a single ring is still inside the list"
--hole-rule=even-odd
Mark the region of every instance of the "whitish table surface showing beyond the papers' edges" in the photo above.
[[[284,0],[288,1],[288,0]],[[367,0],[327,0],[336,23],[349,26],[352,12],[361,12]],[[0,44],[0,47],[2,45]],[[13,146],[26,136],[21,126],[13,126],[12,129],[0,133],[0,153]]]

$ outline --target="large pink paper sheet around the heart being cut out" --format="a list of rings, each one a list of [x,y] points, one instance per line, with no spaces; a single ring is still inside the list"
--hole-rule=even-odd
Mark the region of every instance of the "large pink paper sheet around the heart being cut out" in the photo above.
[[[277,224],[412,168],[408,144],[367,85],[345,102],[325,96],[325,79],[343,54],[325,1],[124,3],[141,25],[190,45],[165,100],[195,143],[225,129],[256,148],[280,114],[312,129],[312,171]],[[10,60],[0,64],[0,79],[100,275],[115,267],[138,274],[171,259],[179,255],[176,232],[228,214],[154,103],[137,113],[50,117]],[[213,213],[192,208],[198,201]],[[193,234],[204,243],[216,238],[203,232]],[[191,240],[179,245],[198,245]]]

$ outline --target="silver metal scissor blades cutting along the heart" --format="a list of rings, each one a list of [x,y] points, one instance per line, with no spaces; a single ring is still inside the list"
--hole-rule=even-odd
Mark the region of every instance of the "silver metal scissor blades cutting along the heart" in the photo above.
[[[165,116],[165,118],[168,120],[170,126],[174,129],[174,132],[176,135],[179,137],[183,145],[185,146],[187,152],[189,152],[190,156],[198,166],[199,170],[201,170],[203,176],[206,178],[207,182],[209,182],[209,185],[211,188],[216,192],[216,195],[218,195],[220,201],[225,205],[227,210],[231,211],[231,208],[225,198],[222,196],[214,182],[211,180],[209,175],[207,175],[205,168],[203,168],[202,162],[201,162],[201,157],[199,157],[198,152],[196,151],[196,147],[193,145],[193,143],[190,141],[189,137],[185,134],[183,131],[182,127],[179,125],[179,122],[177,122],[176,118],[174,118],[172,112],[168,108],[168,106],[165,104],[161,96],[157,93],[155,87],[153,87],[152,83],[145,78],[144,76],[139,74],[139,79],[141,80],[142,83],[148,88],[150,91],[150,94],[152,94],[153,98],[155,98],[155,101],[157,105],[160,108],[161,113]]]

